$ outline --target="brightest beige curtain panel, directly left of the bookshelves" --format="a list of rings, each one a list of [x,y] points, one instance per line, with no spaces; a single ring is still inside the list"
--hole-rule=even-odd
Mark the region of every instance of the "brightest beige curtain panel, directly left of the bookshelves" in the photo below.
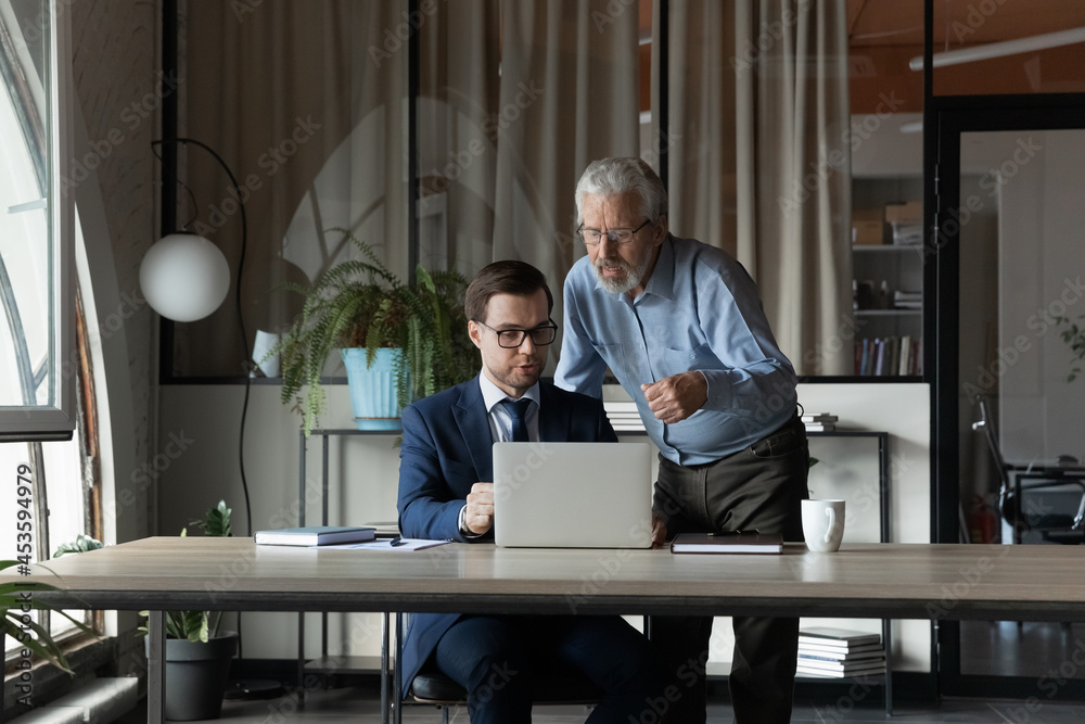
[[[843,0],[736,4],[738,256],[801,374],[850,374]]]

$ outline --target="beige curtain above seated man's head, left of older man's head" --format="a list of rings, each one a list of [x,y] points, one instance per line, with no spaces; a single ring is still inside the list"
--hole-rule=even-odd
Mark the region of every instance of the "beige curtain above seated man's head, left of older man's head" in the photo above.
[[[560,320],[561,285],[584,254],[576,181],[596,158],[639,152],[637,9],[604,0],[502,9],[493,257],[546,272]]]

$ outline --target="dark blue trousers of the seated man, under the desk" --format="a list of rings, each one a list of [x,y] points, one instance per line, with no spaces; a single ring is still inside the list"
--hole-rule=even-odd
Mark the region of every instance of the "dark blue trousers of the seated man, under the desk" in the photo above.
[[[529,724],[532,673],[544,666],[579,671],[602,689],[590,724],[640,722],[663,690],[648,639],[616,615],[467,617],[434,656],[468,690],[471,724]]]

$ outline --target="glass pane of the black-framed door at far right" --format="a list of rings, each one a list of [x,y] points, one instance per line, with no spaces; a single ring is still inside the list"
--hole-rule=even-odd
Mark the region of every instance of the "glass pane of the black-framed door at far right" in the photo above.
[[[960,500],[969,539],[1081,544],[1085,130],[962,134],[960,164]],[[1042,677],[1076,656],[1083,632],[962,622],[960,672]]]

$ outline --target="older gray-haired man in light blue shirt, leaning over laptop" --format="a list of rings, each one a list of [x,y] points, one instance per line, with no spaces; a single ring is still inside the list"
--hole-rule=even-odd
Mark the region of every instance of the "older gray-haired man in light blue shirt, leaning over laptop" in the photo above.
[[[576,209],[587,256],[565,278],[554,381],[599,397],[609,367],[637,402],[660,448],[654,539],[757,530],[802,541],[809,453],[796,378],[753,280],[726,252],[671,234],[666,190],[640,158],[591,163]],[[733,627],[735,721],[789,721],[797,619]],[[705,721],[711,632],[711,618],[653,620],[675,687],[668,722]]]

